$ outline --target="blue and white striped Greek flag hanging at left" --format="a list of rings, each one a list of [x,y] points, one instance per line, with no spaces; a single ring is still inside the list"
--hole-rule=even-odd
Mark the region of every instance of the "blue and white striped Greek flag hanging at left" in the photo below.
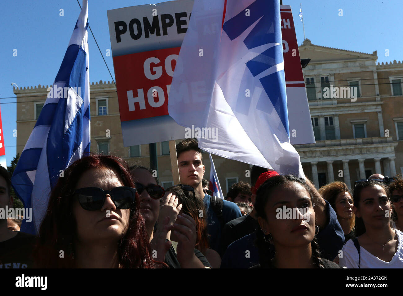
[[[11,178],[25,208],[33,209],[22,232],[37,234],[48,208],[50,191],[71,163],[89,152],[88,5],[79,18],[48,98]],[[66,36],[64,36],[66,37]],[[63,40],[63,34],[59,36]]]

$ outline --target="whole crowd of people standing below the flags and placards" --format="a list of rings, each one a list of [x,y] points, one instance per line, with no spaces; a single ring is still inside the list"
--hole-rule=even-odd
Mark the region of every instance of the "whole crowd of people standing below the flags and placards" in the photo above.
[[[399,268],[403,179],[380,174],[317,189],[253,166],[251,185],[212,196],[194,139],[177,144],[181,184],[112,155],[75,161],[37,236],[0,219],[0,268]],[[0,209],[12,207],[0,167]]]

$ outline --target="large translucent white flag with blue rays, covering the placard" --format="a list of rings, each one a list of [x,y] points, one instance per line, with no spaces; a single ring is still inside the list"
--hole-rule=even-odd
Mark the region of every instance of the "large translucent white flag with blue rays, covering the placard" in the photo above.
[[[195,0],[168,112],[204,128],[201,149],[302,177],[289,139],[282,44],[278,0]]]

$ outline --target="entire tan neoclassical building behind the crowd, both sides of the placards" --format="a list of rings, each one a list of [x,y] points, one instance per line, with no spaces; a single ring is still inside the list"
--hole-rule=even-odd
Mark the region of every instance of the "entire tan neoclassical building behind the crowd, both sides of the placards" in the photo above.
[[[403,64],[377,64],[377,54],[316,46],[305,39],[301,58],[315,144],[296,145],[305,174],[317,187],[333,180],[353,182],[374,173],[403,172]],[[346,88],[357,92],[347,92]],[[328,88],[328,89],[326,89]],[[329,97],[329,89],[343,94]],[[342,89],[343,88],[343,89]],[[47,96],[47,86],[15,88],[17,95],[17,153],[21,153]],[[347,96],[347,98],[346,98]],[[114,83],[90,86],[91,151],[112,153],[129,164],[149,166],[149,145],[123,147]],[[108,134],[109,130],[109,134]],[[139,135],[141,136],[141,135]],[[180,141],[180,140],[179,140]],[[177,142],[179,142],[177,141]],[[157,143],[158,178],[172,185],[168,142]],[[210,161],[203,153],[206,178]],[[214,156],[223,193],[238,181],[250,182],[250,166]]]

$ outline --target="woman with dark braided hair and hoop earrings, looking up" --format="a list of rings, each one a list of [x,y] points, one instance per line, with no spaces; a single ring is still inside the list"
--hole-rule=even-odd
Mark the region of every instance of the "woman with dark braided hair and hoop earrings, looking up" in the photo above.
[[[260,264],[252,268],[340,268],[321,257],[312,196],[305,180],[291,175],[273,176],[259,187],[255,209]]]

